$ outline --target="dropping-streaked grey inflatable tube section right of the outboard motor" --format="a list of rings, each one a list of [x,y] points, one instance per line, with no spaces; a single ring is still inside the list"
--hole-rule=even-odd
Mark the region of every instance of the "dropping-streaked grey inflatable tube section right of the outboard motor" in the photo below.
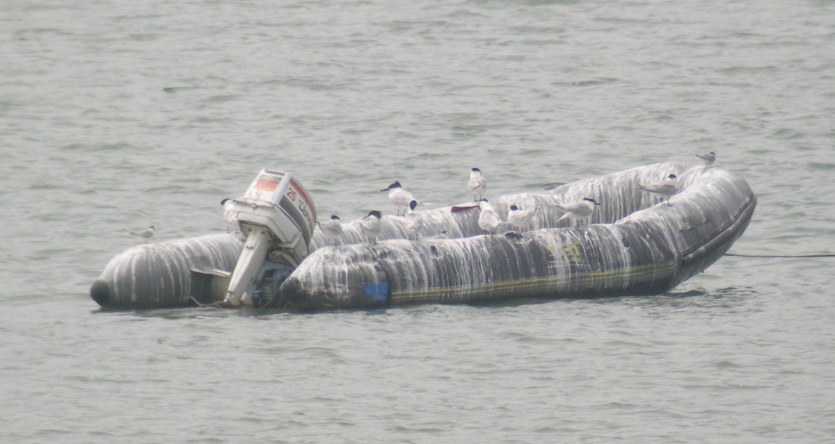
[[[669,204],[639,188],[670,174],[678,183]],[[549,206],[586,197],[600,203],[586,226],[559,220],[564,212]],[[536,208],[530,230],[485,237],[478,208],[447,207],[418,212],[417,241],[406,240],[404,217],[383,217],[381,240],[367,245],[353,221],[342,245],[324,245],[317,231],[316,250],[273,301],[332,310],[663,293],[724,255],[757,204],[746,181],[726,169],[674,163],[489,200],[503,220],[512,204]]]

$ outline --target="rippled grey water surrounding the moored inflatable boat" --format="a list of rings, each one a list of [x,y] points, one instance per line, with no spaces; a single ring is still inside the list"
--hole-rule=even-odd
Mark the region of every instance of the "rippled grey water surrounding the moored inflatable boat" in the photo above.
[[[3,442],[833,442],[835,259],[665,295],[102,312],[134,245],[292,171],[320,214],[716,151],[731,252],[835,253],[835,3],[5,0]]]

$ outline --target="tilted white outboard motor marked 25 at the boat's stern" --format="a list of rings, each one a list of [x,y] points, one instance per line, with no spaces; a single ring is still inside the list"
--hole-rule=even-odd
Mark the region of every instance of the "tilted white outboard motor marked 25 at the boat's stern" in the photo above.
[[[246,240],[224,302],[258,306],[310,252],[316,207],[291,174],[271,169],[262,169],[234,202]]]

